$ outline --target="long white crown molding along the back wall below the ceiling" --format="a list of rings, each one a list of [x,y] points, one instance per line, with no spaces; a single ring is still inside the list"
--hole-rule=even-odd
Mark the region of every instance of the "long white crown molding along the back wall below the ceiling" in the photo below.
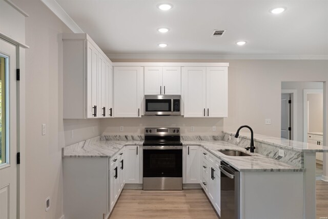
[[[326,60],[328,55],[208,55],[208,54],[111,54],[109,58],[121,59],[259,59],[259,60]]]

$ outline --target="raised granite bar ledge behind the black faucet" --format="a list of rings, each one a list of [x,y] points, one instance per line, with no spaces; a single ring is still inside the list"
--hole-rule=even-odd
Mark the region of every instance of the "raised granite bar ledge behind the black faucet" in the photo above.
[[[223,131],[225,134],[235,135],[236,132]],[[251,139],[251,133],[240,132],[240,137]],[[323,145],[315,145],[305,142],[297,142],[292,140],[287,140],[278,137],[265,136],[260,134],[254,134],[254,141],[261,143],[270,144],[281,149],[289,149],[299,152],[328,152],[328,147]]]

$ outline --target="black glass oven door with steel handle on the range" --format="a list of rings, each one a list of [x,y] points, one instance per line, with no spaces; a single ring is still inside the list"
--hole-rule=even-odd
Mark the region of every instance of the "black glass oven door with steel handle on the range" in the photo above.
[[[182,146],[144,146],[145,177],[182,177]]]

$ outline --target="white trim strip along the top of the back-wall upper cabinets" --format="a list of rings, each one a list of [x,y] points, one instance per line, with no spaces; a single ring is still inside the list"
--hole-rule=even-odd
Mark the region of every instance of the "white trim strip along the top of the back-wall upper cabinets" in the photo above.
[[[197,66],[197,67],[229,67],[229,63],[113,63],[113,66]]]

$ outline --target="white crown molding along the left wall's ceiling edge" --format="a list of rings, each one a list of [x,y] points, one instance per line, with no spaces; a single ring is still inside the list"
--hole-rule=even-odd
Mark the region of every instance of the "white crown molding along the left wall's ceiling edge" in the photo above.
[[[55,0],[41,0],[57,17],[64,22],[74,33],[83,33],[83,30],[74,22],[74,20],[61,8]]]

